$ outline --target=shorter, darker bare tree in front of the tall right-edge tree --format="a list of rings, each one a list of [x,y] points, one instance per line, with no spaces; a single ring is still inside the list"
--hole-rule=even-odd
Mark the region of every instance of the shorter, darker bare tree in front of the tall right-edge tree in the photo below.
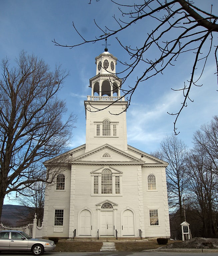
[[[187,174],[189,176],[189,197],[203,223],[203,237],[218,237],[217,175],[214,175],[213,161],[204,152],[192,151],[189,155]]]

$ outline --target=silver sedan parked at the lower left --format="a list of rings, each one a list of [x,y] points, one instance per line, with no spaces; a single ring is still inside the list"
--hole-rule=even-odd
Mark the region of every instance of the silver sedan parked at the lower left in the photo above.
[[[51,240],[31,238],[22,231],[0,231],[1,251],[31,251],[33,255],[42,255],[43,252],[53,251],[55,244]]]

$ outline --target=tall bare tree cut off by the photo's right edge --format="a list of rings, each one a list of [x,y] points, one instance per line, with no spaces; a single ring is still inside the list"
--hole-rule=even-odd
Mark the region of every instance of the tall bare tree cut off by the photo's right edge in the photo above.
[[[189,156],[189,188],[203,221],[204,236],[218,237],[218,116],[193,136]]]

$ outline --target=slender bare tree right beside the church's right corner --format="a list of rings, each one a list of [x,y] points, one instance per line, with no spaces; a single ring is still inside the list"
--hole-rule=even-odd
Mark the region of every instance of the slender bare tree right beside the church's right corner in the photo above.
[[[179,209],[180,221],[183,222],[185,218],[182,198],[187,183],[188,148],[173,134],[166,136],[161,141],[160,148],[151,154],[169,163],[166,168],[169,207]]]

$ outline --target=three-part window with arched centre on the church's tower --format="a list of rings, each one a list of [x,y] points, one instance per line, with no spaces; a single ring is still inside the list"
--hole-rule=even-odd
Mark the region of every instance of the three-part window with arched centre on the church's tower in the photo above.
[[[95,123],[95,136],[98,137],[117,137],[118,122],[112,122],[109,119],[104,119],[102,122]]]

